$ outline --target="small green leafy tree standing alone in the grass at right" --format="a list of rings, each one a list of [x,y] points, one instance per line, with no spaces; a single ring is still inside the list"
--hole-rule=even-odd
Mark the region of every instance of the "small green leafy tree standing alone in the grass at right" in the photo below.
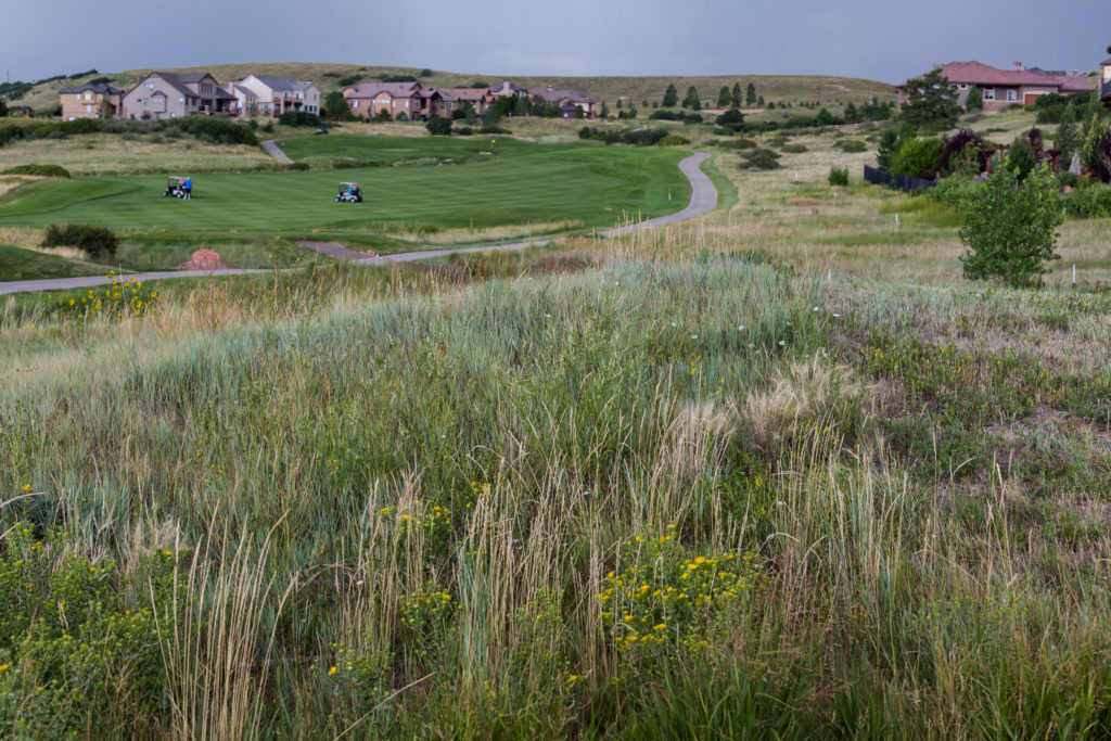
[[[1059,260],[1057,228],[1064,220],[1053,173],[1038,168],[1025,180],[1011,167],[1010,156],[975,196],[975,207],[961,228],[964,277],[998,279],[1004,286],[1029,286]]]

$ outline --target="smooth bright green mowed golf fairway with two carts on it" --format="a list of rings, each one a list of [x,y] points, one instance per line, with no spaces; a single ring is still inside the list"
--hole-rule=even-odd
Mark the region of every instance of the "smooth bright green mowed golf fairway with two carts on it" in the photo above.
[[[360,161],[376,151],[382,162],[442,160],[437,152],[446,151],[470,152],[474,159],[461,164],[208,174],[194,178],[190,201],[163,198],[161,176],[50,181],[0,199],[0,226],[70,222],[132,233],[164,229],[280,234],[363,231],[380,222],[487,228],[578,220],[589,229],[677,211],[690,197],[690,184],[678,169],[685,152],[672,149],[507,140],[488,141],[479,151],[493,153],[479,154],[471,151],[472,141],[412,139],[391,151],[384,144],[394,142],[376,139],[319,137],[287,146],[303,157],[354,152]],[[348,180],[362,183],[363,203],[334,202],[339,182]]]

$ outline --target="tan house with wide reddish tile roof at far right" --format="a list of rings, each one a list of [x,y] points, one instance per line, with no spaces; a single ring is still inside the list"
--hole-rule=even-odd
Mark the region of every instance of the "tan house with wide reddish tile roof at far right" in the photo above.
[[[1001,111],[1011,106],[1028,106],[1039,97],[1051,92],[1068,96],[1073,92],[1091,92],[1091,81],[1072,71],[1067,73],[1024,69],[1022,62],[1014,62],[1009,70],[1001,70],[981,62],[949,62],[934,67],[941,76],[957,89],[957,102],[965,104],[969,91],[975,87],[983,96],[985,111]],[[908,102],[905,86],[899,86],[899,103]]]

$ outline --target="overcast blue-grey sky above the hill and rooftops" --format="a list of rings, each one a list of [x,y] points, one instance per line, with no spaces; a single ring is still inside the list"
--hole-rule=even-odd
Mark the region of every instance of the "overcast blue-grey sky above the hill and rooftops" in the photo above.
[[[841,74],[935,62],[1090,70],[1111,0],[10,0],[0,72],[344,62],[512,74]]]

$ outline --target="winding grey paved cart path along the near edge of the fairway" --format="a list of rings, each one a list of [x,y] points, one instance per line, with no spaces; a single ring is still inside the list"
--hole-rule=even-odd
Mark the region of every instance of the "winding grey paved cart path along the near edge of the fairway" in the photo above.
[[[269,142],[262,142],[263,146],[267,143],[273,143],[273,140]],[[268,148],[269,150],[269,148]],[[279,150],[280,152],[281,150]],[[718,206],[718,189],[713,187],[710,178],[707,177],[701,170],[702,161],[705,160],[710,154],[708,152],[695,152],[687,159],[679,163],[680,171],[687,176],[687,179],[691,183],[691,200],[682,211],[675,213],[670,213],[663,217],[657,217],[654,219],[648,219],[647,221],[639,221],[634,224],[628,224],[625,227],[614,227],[612,229],[603,229],[597,233],[601,237],[619,237],[621,234],[628,234],[635,231],[643,231],[645,229],[653,229],[655,227],[662,227],[669,223],[675,223],[678,221],[684,221],[687,219],[693,219],[694,217],[700,217],[709,213]],[[542,247],[548,244],[551,240],[541,239],[524,242],[512,242],[509,244],[486,244],[481,247],[464,247],[458,249],[443,249],[443,250],[420,250],[414,252],[399,252],[398,254],[383,254],[377,258],[369,258],[361,252],[356,252],[354,250],[348,250],[342,244],[336,242],[301,242],[309,249],[317,250],[323,254],[331,254],[341,260],[350,260],[358,264],[387,264],[390,262],[414,262],[417,260],[431,260],[434,258],[443,258],[449,254],[461,254],[468,252],[500,252],[504,250],[523,250],[530,247]],[[313,247],[313,246],[318,247]],[[331,252],[326,251],[331,250]],[[333,254],[333,252],[339,252]],[[348,253],[344,256],[343,253]],[[354,256],[354,257],[351,257]],[[167,278],[189,278],[196,276],[242,276],[244,273],[257,273],[257,272],[270,272],[269,269],[259,268],[232,268],[229,270],[167,270],[160,272],[142,272],[142,273],[117,273],[113,276],[114,280],[128,280],[129,278],[136,278],[137,280],[161,280]],[[92,286],[103,286],[110,283],[112,279],[106,278],[104,276],[82,276],[80,278],[48,278],[44,280],[17,280],[10,282],[0,282],[0,294],[4,293],[19,293],[19,292],[31,292],[31,291],[63,291],[70,288],[89,288]]]

